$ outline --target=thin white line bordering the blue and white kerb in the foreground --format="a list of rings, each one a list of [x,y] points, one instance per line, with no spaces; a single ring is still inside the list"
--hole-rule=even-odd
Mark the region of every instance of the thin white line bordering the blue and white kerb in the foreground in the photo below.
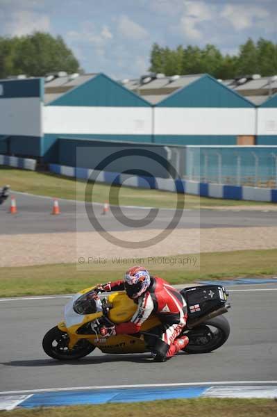
[[[166,386],[214,386],[214,385],[242,385],[242,384],[277,384],[277,381],[223,381],[223,382],[175,382],[172,384],[135,384],[135,385],[102,385],[102,386],[72,386],[68,388],[46,388],[46,389],[26,389],[19,391],[0,391],[0,395],[9,394],[31,394],[31,393],[51,393],[55,391],[85,391],[97,389],[124,389],[124,388],[156,388]]]

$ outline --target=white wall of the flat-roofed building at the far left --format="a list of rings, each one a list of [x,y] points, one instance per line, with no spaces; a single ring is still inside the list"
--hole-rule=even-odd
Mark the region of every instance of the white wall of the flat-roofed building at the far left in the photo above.
[[[0,99],[0,135],[41,136],[40,97]]]

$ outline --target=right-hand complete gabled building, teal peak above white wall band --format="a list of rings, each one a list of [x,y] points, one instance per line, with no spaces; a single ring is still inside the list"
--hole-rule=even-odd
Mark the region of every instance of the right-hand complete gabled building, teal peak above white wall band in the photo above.
[[[255,144],[255,105],[208,74],[158,101],[153,124],[155,142],[167,145]]]

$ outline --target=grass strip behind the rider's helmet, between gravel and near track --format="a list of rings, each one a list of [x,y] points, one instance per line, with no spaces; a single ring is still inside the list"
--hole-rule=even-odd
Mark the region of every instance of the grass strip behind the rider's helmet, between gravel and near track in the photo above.
[[[195,255],[192,255],[195,256]],[[172,258],[172,256],[170,256]],[[165,257],[166,258],[166,257]],[[176,256],[175,259],[182,258]],[[185,284],[204,279],[233,277],[269,277],[277,272],[277,250],[242,250],[201,254],[200,268],[144,265],[150,272],[171,284]],[[127,265],[108,264],[87,269],[87,265],[54,264],[1,268],[0,297],[76,293],[94,284],[121,279]]]

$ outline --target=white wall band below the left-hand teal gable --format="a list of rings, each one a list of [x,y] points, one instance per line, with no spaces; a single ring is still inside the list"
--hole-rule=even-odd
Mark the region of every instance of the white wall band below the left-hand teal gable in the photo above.
[[[151,135],[151,107],[45,106],[44,133]]]

